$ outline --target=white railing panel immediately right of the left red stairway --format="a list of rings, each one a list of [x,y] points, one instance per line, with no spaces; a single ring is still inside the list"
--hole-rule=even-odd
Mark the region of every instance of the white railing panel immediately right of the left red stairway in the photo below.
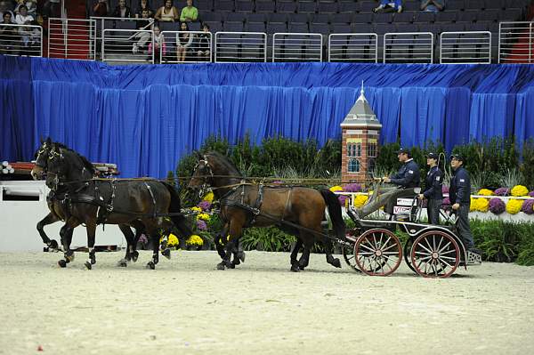
[[[149,29],[102,30],[102,61],[154,62],[154,32]]]

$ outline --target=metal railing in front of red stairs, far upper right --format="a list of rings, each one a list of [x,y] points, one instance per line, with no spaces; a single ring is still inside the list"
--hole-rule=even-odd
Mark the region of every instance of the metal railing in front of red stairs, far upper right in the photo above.
[[[498,62],[534,63],[534,22],[498,24]]]

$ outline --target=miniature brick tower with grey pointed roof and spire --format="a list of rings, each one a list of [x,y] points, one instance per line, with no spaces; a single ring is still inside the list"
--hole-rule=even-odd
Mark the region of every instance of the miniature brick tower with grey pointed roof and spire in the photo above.
[[[343,182],[364,182],[368,173],[375,171],[380,129],[382,125],[365,98],[362,82],[360,97],[341,123]]]

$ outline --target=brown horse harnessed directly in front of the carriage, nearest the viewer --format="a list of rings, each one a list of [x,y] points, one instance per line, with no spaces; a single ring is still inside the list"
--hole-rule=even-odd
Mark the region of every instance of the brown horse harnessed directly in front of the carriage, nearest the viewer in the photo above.
[[[198,157],[188,185],[188,188],[193,190],[204,190],[207,187],[210,187],[215,198],[219,199],[223,230],[230,233],[225,246],[216,244],[223,259],[217,264],[218,270],[234,268],[230,261],[231,250],[244,228],[272,225],[277,225],[299,240],[291,252],[290,270],[304,270],[308,266],[316,237],[326,246],[327,262],[341,267],[339,259],[332,256],[331,242],[321,228],[325,209],[328,207],[336,237],[342,240],[345,238],[341,206],[336,195],[330,190],[297,186],[272,187],[245,182],[239,170],[226,157],[214,151]],[[297,262],[300,243],[303,244],[304,250],[300,261]]]

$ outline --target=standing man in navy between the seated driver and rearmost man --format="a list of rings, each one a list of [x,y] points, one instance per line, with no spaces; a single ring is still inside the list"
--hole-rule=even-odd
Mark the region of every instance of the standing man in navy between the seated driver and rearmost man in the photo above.
[[[426,164],[430,166],[430,170],[426,173],[425,191],[419,194],[419,199],[427,199],[426,214],[428,215],[428,222],[437,225],[440,224],[440,208],[443,202],[443,192],[441,190],[443,172],[438,166],[438,155],[435,153],[428,153]]]

